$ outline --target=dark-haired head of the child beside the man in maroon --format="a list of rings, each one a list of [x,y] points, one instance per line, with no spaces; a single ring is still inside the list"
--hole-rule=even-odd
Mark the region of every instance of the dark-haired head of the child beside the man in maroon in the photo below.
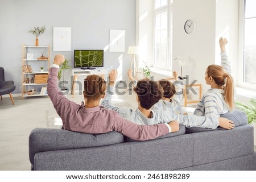
[[[144,109],[150,109],[163,96],[163,90],[160,85],[148,79],[139,80],[134,91],[137,93],[139,104]]]

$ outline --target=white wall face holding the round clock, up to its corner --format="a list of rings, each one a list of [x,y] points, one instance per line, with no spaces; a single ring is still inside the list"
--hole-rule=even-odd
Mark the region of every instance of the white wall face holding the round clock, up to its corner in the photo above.
[[[189,75],[189,83],[197,80],[204,84],[205,69],[215,60],[215,1],[174,0],[173,57],[181,56],[186,65],[183,75]],[[188,19],[196,22],[196,31],[186,34],[184,23]],[[173,61],[173,67],[180,67]],[[203,86],[203,90],[208,89]]]

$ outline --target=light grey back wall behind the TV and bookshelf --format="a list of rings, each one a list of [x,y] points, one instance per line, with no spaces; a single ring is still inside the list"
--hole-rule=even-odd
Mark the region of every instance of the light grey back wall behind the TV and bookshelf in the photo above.
[[[1,0],[0,67],[5,68],[6,80],[14,80],[14,93],[21,93],[22,45],[34,45],[35,36],[28,33],[34,26],[46,26],[45,33],[39,36],[39,45],[51,47],[53,27],[72,28],[72,51],[51,49],[51,57],[61,53],[73,60],[73,49],[106,48],[104,67],[118,68],[119,79],[126,79],[131,59],[127,48],[136,41],[135,9],[135,0]],[[110,29],[126,30],[125,52],[108,51]]]

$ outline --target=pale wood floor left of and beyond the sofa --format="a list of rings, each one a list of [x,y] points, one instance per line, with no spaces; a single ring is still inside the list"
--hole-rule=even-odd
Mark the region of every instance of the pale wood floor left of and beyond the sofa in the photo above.
[[[76,95],[70,100],[80,104],[82,96]],[[28,159],[28,136],[36,127],[47,127],[47,110],[54,110],[48,97],[28,97],[21,100],[14,97],[0,100],[0,170],[30,170]],[[114,103],[128,102],[136,108],[135,96],[126,92],[123,96],[114,96]],[[254,146],[256,151],[256,146]]]

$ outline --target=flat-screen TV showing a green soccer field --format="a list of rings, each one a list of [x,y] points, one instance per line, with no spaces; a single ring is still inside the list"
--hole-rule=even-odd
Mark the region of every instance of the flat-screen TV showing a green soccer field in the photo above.
[[[74,50],[74,68],[103,67],[104,50]]]

